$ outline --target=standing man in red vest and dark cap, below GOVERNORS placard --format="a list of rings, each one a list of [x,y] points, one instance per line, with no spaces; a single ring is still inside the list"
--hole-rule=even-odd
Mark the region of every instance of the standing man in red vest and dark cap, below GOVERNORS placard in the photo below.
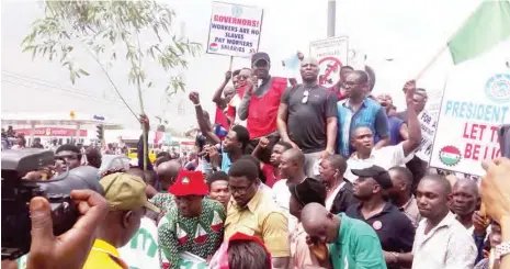
[[[241,121],[247,120],[247,128],[250,132],[247,154],[253,152],[261,137],[267,137],[270,143],[261,159],[269,164],[271,149],[280,141],[276,117],[280,99],[287,87],[287,79],[269,75],[271,59],[267,53],[253,54],[251,67],[252,77],[249,79],[238,113]]]

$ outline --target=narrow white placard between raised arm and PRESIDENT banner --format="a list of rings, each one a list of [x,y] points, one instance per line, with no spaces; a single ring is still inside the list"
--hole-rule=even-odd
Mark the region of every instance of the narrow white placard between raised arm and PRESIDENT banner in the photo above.
[[[418,115],[418,121],[420,121],[421,143],[418,147],[418,150],[416,152],[416,156],[421,160],[429,162],[430,156],[432,155],[432,145],[434,142],[434,133],[438,123],[432,114],[428,113],[427,111],[422,111]]]

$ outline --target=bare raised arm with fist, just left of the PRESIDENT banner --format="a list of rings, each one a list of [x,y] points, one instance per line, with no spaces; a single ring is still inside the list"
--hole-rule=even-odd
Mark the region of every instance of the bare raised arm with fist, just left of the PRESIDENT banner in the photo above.
[[[418,148],[421,142],[420,122],[418,121],[418,114],[416,113],[415,104],[412,101],[416,92],[416,81],[407,81],[404,86],[404,91],[406,92],[409,138],[403,142],[403,149],[404,155],[408,156],[410,153]]]

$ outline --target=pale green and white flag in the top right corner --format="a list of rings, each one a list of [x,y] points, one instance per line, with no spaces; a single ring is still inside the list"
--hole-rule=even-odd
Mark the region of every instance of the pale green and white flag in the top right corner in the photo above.
[[[510,36],[510,1],[488,0],[447,43],[455,65],[489,51]]]

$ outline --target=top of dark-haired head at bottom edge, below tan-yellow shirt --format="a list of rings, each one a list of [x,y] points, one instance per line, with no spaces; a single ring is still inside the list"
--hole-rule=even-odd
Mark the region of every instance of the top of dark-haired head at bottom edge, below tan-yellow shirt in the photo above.
[[[270,269],[271,260],[264,247],[252,240],[228,243],[228,267],[236,269]]]

